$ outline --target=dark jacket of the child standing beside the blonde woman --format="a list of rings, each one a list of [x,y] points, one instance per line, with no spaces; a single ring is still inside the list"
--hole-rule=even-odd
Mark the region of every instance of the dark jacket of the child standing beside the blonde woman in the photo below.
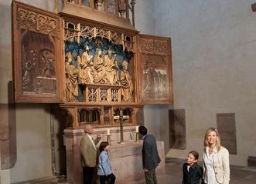
[[[197,163],[194,163],[189,167],[189,172],[187,166],[189,164],[183,164],[183,184],[199,184],[200,179],[203,183],[203,169]]]

